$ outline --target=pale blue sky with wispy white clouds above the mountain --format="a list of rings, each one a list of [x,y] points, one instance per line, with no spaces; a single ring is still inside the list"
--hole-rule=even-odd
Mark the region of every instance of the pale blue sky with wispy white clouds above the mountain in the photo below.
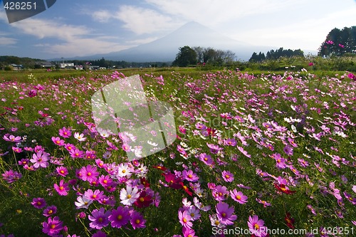
[[[189,21],[256,46],[316,52],[333,28],[356,26],[355,13],[356,0],[58,0],[41,14],[9,23],[1,2],[0,56],[121,51]]]

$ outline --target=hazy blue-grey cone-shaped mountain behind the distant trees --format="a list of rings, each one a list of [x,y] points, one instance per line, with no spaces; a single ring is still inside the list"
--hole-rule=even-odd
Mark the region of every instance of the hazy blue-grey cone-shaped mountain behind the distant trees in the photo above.
[[[179,47],[201,46],[214,49],[230,50],[235,53],[236,59],[248,60],[254,51],[265,52],[271,49],[266,46],[251,46],[248,43],[235,41],[223,36],[221,33],[201,25],[195,21],[186,23],[167,36],[145,43],[134,48],[118,52],[98,54],[95,56],[80,57],[85,59],[125,60],[127,62],[169,62],[177,56]],[[76,58],[78,59],[78,58]]]

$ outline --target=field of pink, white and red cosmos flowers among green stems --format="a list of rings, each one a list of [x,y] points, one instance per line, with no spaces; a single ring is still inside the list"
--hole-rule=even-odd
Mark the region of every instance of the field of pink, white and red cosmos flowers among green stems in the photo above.
[[[132,161],[90,105],[123,78],[0,82],[0,236],[356,236],[354,74],[142,73],[177,139]]]

